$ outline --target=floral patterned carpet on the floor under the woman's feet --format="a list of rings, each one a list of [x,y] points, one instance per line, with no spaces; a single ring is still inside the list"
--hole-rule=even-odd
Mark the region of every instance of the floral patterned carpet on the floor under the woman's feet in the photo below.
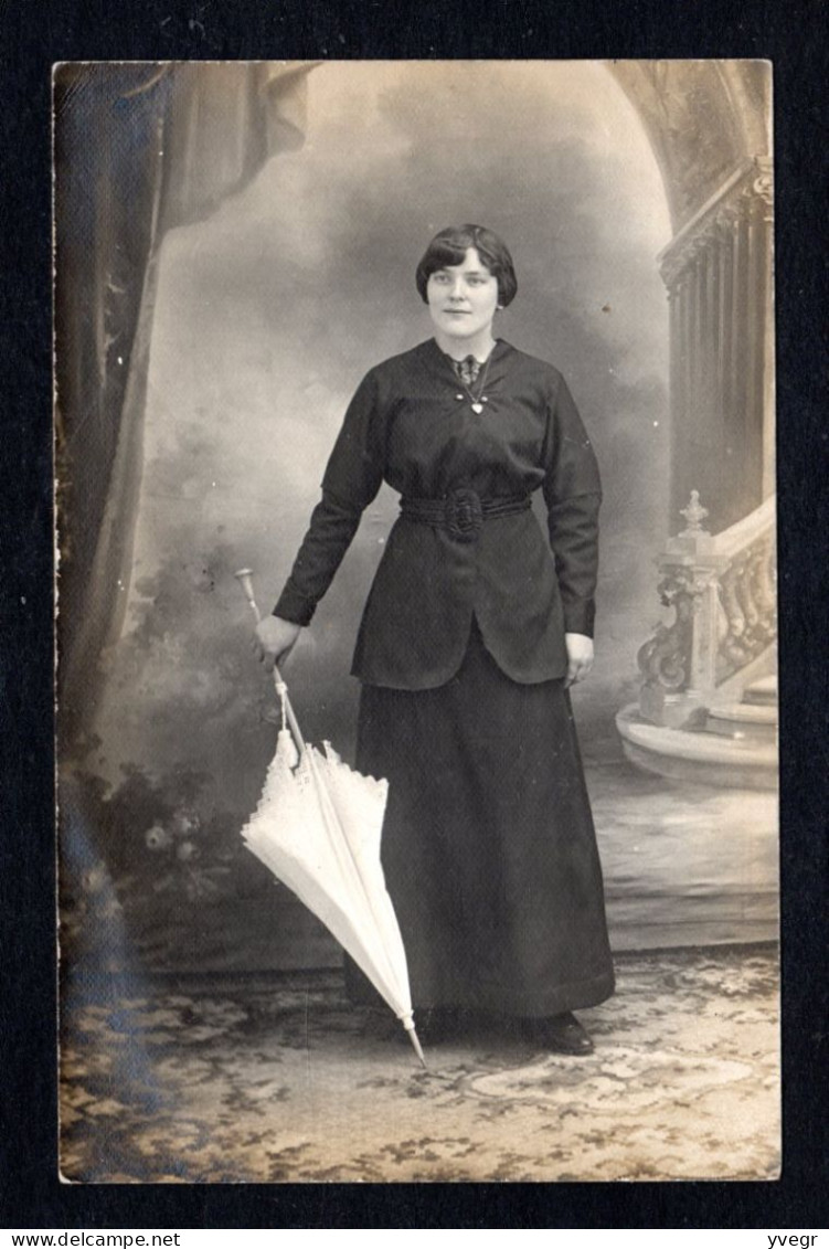
[[[478,1020],[427,1053],[340,977],[70,987],[61,1159],[80,1183],[769,1179],[777,952],[618,959],[589,1058]]]

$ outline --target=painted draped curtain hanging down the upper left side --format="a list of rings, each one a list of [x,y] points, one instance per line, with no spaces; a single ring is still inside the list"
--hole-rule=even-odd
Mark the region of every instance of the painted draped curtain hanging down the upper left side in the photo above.
[[[55,458],[64,747],[127,601],[160,244],[305,137],[312,62],[55,71]]]

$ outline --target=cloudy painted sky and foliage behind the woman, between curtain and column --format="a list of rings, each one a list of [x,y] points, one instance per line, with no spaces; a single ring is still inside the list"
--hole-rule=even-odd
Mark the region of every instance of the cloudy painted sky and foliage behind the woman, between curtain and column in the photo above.
[[[613,714],[633,696],[635,651],[659,616],[653,557],[675,528],[655,260],[670,226],[642,125],[601,64],[321,65],[303,146],[167,232],[159,259],[125,623],[64,839],[67,878],[86,873],[72,906],[109,908],[149,967],[331,957],[240,846],[275,707],[232,575],[252,566],[270,608],[350,395],[372,363],[429,336],[413,281],[426,242],[468,220],[516,260],[501,335],[562,370],[598,450],[598,659],[576,711],[588,762],[619,757]],[[351,648],[395,511],[383,491],[287,673],[307,734],[346,756]]]

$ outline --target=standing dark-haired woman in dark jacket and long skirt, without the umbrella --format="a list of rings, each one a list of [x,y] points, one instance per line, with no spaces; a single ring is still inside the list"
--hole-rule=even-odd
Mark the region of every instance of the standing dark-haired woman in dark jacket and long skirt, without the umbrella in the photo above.
[[[502,240],[442,230],[416,281],[433,337],[360,385],[258,643],[290,652],[382,481],[400,491],[352,672],[418,1028],[478,1009],[584,1054],[572,1012],[613,992],[567,693],[593,662],[598,470],[561,373],[494,337],[517,289]]]

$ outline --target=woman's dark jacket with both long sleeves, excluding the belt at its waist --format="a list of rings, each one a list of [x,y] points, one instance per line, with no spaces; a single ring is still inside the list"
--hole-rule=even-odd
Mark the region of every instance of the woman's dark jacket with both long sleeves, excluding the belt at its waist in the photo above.
[[[444,684],[473,616],[498,666],[523,683],[566,673],[566,631],[592,636],[601,485],[567,385],[552,365],[499,340],[483,393],[478,415],[429,340],[372,368],[346,412],[276,616],[310,623],[383,481],[405,500],[452,500],[461,490],[484,505],[519,506],[541,488],[548,513],[549,546],[528,510],[484,518],[472,541],[463,517],[458,530],[446,517],[401,515],[357,637],[352,672],[370,684]]]

